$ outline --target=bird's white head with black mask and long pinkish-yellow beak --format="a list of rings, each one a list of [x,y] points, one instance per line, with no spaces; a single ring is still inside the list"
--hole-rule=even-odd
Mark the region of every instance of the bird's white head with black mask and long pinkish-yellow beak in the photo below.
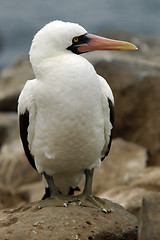
[[[36,64],[41,60],[55,57],[63,53],[81,54],[95,50],[135,50],[129,42],[112,40],[89,34],[79,24],[53,21],[44,26],[35,35],[30,60]]]

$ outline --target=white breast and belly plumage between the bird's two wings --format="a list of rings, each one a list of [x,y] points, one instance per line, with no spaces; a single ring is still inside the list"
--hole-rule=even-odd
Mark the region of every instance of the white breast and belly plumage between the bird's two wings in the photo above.
[[[57,66],[49,74],[52,79],[40,81],[35,88],[33,144],[46,158],[69,158],[73,164],[78,154],[82,159],[98,158],[102,148],[101,90],[90,64],[70,62],[65,66],[65,70]]]

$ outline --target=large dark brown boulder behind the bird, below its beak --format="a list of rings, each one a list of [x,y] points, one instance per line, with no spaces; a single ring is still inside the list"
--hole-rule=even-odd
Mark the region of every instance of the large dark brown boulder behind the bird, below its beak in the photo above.
[[[114,137],[122,137],[146,147],[150,153],[150,165],[157,165],[160,152],[160,114],[157,111],[160,74],[144,73],[139,64],[140,74],[134,67],[133,62],[96,64],[98,73],[108,80],[115,96]],[[145,68],[148,70],[147,66]]]

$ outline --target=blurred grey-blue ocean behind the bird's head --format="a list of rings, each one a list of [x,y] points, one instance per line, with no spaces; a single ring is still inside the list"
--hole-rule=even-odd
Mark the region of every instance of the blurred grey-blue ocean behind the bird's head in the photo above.
[[[118,29],[160,37],[160,0],[0,0],[0,68],[27,54],[34,34],[55,19],[92,33]]]

